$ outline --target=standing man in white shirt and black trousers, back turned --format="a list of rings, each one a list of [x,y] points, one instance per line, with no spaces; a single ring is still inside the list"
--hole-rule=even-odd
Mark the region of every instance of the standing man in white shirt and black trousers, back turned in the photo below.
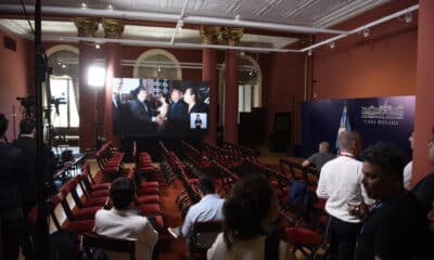
[[[317,195],[327,199],[331,259],[354,259],[361,216],[366,205],[373,202],[368,198],[361,184],[362,162],[356,159],[361,148],[360,134],[344,131],[339,135],[337,143],[340,156],[322,167]]]

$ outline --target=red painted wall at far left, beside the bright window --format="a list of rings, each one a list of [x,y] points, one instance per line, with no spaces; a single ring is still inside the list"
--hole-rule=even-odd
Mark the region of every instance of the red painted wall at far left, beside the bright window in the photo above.
[[[16,52],[3,47],[3,37],[8,36],[16,41]],[[20,132],[20,114],[21,105],[16,101],[17,96],[25,96],[29,93],[33,81],[28,77],[28,46],[31,42],[21,39],[16,36],[9,35],[0,30],[0,113],[3,113],[9,120],[7,138],[12,141],[14,136],[13,126],[15,121],[16,134]],[[13,106],[15,106],[16,117],[13,115]]]

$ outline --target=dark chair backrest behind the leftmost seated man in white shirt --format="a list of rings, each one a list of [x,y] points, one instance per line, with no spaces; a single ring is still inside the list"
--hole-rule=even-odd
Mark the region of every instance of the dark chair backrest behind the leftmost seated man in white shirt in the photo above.
[[[90,248],[99,248],[104,251],[112,252],[125,252],[129,253],[129,259],[136,259],[136,245],[135,240],[117,239],[95,233],[85,233],[82,235],[82,246],[88,259],[92,259],[92,252]]]

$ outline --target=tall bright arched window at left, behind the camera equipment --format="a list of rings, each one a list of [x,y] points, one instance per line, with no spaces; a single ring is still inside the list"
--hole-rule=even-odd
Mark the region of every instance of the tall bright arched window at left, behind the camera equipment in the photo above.
[[[78,49],[59,44],[47,51],[52,68],[50,90],[44,91],[44,104],[51,103],[51,121],[65,134],[78,133]]]

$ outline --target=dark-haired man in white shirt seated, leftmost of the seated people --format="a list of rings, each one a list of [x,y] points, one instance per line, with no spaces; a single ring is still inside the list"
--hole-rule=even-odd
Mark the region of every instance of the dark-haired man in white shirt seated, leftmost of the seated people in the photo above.
[[[136,259],[151,260],[158,233],[148,218],[132,210],[135,184],[132,180],[120,177],[113,181],[110,199],[113,208],[101,209],[95,214],[97,234],[120,239],[136,240]],[[126,253],[107,253],[110,260],[129,259]]]

